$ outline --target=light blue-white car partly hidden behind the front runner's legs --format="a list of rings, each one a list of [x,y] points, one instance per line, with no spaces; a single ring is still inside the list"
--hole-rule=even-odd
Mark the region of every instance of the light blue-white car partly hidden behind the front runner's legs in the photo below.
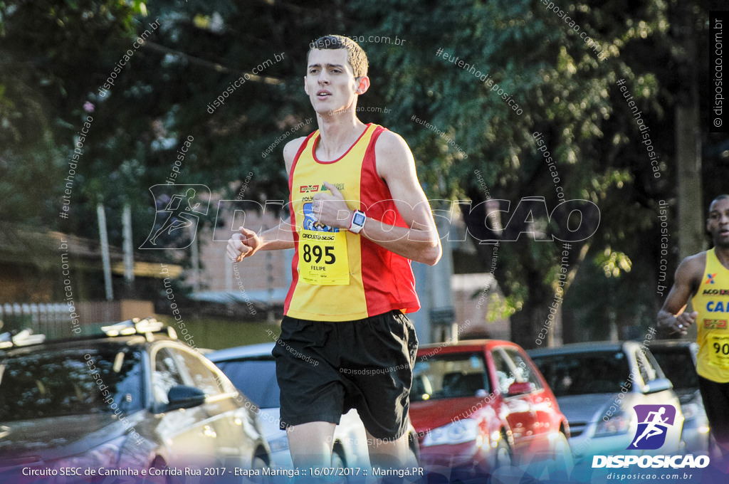
[[[289,440],[279,427],[281,403],[276,380],[276,362],[271,355],[276,343],[238,346],[214,351],[208,358],[260,409],[265,437],[273,453],[276,467],[292,468]],[[419,455],[415,429],[410,426],[410,460],[417,465]],[[356,410],[342,415],[334,432],[333,467],[369,467],[367,434]]]

